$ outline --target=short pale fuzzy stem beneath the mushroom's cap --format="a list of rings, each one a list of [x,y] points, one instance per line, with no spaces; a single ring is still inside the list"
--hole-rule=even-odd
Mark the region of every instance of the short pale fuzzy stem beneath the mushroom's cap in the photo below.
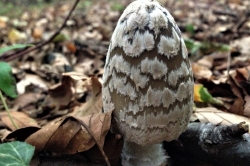
[[[133,142],[124,142],[123,166],[163,166],[166,163],[167,155],[161,143],[141,146]]]

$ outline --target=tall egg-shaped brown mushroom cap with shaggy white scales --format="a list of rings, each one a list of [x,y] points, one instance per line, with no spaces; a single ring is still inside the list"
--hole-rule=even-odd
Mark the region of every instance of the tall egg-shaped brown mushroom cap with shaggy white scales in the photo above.
[[[113,32],[103,74],[103,109],[113,131],[139,145],[177,139],[193,107],[193,75],[181,32],[154,0],[137,0]]]

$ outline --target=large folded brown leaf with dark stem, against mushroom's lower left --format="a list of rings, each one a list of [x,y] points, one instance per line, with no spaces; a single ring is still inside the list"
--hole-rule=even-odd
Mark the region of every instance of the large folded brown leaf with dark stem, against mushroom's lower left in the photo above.
[[[103,145],[110,128],[110,113],[93,114],[81,117],[94,135],[88,132],[81,122],[72,116],[50,123],[38,130],[25,141],[36,147],[36,151],[47,150],[57,153],[73,154],[90,149],[95,145],[93,136]]]

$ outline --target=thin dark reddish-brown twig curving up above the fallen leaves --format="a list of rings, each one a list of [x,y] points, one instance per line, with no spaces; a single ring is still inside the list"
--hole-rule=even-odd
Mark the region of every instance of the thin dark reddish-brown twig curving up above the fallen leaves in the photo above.
[[[54,39],[54,38],[62,31],[62,29],[66,26],[68,19],[70,18],[72,12],[75,10],[75,8],[76,8],[77,4],[79,3],[79,1],[80,1],[80,0],[76,0],[76,1],[75,1],[75,3],[74,3],[74,5],[73,5],[72,9],[70,10],[68,16],[64,19],[64,22],[63,22],[63,24],[61,25],[61,27],[60,27],[60,28],[59,28],[59,29],[58,29],[58,30],[57,30],[57,31],[56,31],[47,41],[38,43],[38,44],[36,44],[34,47],[28,47],[27,49],[24,49],[24,50],[22,50],[22,51],[18,50],[18,51],[15,51],[15,52],[11,53],[11,54],[7,54],[7,56],[3,54],[3,55],[0,57],[0,59],[3,60],[3,61],[6,61],[6,62],[7,62],[7,61],[11,61],[11,60],[13,60],[13,59],[15,59],[15,58],[17,58],[17,57],[26,55],[26,54],[30,53],[31,51],[35,51],[35,50],[37,50],[37,49],[39,49],[39,48],[45,46],[46,44],[50,43],[51,41],[53,41],[53,39]]]

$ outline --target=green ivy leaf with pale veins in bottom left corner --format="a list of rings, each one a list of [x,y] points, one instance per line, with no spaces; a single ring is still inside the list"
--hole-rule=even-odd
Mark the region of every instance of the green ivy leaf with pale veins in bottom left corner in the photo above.
[[[0,165],[28,166],[35,147],[26,142],[10,142],[0,144]]]

